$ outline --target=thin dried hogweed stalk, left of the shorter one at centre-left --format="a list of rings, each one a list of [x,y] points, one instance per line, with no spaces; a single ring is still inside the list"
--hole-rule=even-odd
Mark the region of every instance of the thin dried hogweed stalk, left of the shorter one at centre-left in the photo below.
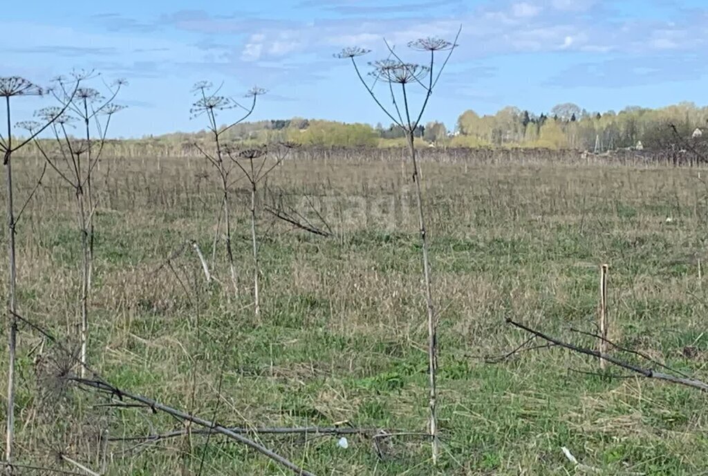
[[[229,259],[229,272],[231,274],[232,284],[234,285],[234,293],[237,295],[239,293],[239,280],[236,276],[236,264],[234,262],[234,251],[232,248],[231,219],[229,212],[229,190],[234,185],[230,179],[230,174],[233,170],[234,164],[232,161],[226,160],[228,157],[226,151],[224,150],[225,143],[223,136],[225,132],[234,128],[235,125],[242,123],[246,120],[246,118],[249,118],[249,116],[253,113],[253,110],[256,108],[258,96],[265,94],[265,89],[253,87],[248,94],[246,94],[246,98],[251,99],[251,104],[249,107],[242,106],[241,103],[236,101],[234,98],[222,96],[219,94],[221,91],[221,86],[215,89],[213,84],[208,81],[198,82],[194,85],[192,91],[197,96],[197,100],[192,104],[190,113],[192,113],[193,118],[199,117],[200,115],[206,116],[207,130],[209,130],[211,138],[214,142],[214,150],[207,151],[207,149],[201,147],[196,142],[194,145],[217,171],[219,176],[219,186],[221,186],[222,192],[222,201],[219,208],[219,216],[217,217],[217,229],[215,231],[214,245],[212,247],[212,256],[215,256],[216,254],[217,237],[219,234],[219,226],[221,225],[221,216],[223,212],[226,252],[227,258]],[[230,109],[240,109],[241,111],[244,111],[244,115],[229,125],[218,125],[217,118],[219,113]],[[213,266],[214,263],[212,263],[212,267]]]

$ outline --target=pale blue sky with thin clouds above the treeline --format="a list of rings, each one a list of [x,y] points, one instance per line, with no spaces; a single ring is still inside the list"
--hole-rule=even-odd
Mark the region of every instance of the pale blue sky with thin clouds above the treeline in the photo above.
[[[459,49],[424,120],[518,106],[537,113],[574,102],[589,111],[708,104],[704,0],[35,0],[4,6],[0,76],[43,84],[72,68],[130,82],[112,135],[198,130],[191,86],[224,82],[238,96],[268,89],[253,119],[386,123],[350,65],[360,45],[386,56],[428,35]],[[405,51],[406,59],[420,53]],[[422,60],[422,58],[421,58]],[[27,103],[20,113],[30,114]]]

